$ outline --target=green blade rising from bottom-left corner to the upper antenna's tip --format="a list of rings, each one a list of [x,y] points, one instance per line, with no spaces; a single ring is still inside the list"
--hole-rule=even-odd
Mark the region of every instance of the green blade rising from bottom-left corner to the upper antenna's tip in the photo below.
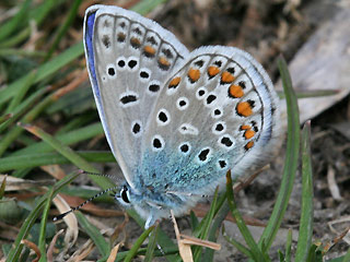
[[[79,174],[72,174],[69,176],[66,176],[62,180],[58,181],[55,184],[55,190],[54,190],[54,195],[56,195],[56,193],[62,188],[66,187],[68,183],[70,183],[71,181],[73,181],[77,177],[79,176]],[[7,262],[16,262],[19,261],[20,254],[22,252],[23,249],[23,245],[21,243],[22,239],[26,238],[30,234],[30,230],[32,228],[32,226],[34,225],[36,218],[42,214],[42,209],[44,207],[46,201],[47,201],[47,196],[48,196],[48,192],[45,193],[39,201],[37,202],[37,205],[35,206],[35,209],[30,213],[30,215],[25,218],[24,223],[22,224],[22,227],[14,240],[13,247],[9,252],[9,255],[7,258]]]

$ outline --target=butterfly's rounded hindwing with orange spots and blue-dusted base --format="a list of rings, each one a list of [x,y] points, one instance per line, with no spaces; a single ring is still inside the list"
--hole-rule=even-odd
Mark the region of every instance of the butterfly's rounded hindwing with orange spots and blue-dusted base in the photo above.
[[[142,144],[140,183],[205,193],[265,163],[279,142],[279,98],[262,67],[233,47],[189,55],[162,88]]]

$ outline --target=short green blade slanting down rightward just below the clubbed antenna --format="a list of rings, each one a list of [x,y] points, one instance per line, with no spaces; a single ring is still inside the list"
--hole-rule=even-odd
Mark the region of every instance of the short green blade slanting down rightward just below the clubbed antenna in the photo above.
[[[78,218],[79,225],[84,229],[84,231],[89,235],[92,241],[96,245],[102,257],[108,255],[110,252],[110,246],[102,236],[100,230],[94,225],[92,225],[81,212],[75,211],[74,214]]]

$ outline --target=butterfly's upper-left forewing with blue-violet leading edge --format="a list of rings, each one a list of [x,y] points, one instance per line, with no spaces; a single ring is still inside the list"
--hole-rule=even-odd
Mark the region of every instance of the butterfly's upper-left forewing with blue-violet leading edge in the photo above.
[[[165,79],[188,51],[155,22],[109,5],[86,10],[84,48],[108,144],[132,186],[147,120]]]

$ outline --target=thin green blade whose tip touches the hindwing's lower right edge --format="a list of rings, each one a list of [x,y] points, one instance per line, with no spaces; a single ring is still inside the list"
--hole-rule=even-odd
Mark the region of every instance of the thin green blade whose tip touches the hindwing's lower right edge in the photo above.
[[[265,261],[259,247],[255,242],[249,229],[247,228],[241,213],[237,210],[236,203],[234,201],[231,171],[228,171],[226,179],[228,179],[226,194],[228,194],[228,203],[230,206],[230,211],[232,213],[232,216],[236,219],[237,227],[238,227],[246,245],[250,249],[250,253],[252,253],[250,258],[254,259],[255,261]]]

